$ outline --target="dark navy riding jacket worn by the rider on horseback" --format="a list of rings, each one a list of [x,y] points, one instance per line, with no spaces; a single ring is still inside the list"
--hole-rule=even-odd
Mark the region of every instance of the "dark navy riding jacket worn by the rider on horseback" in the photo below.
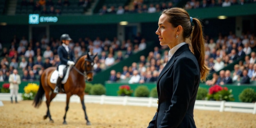
[[[68,47],[69,52],[65,49],[64,46],[58,47],[58,55],[60,57],[60,64],[59,65],[67,65],[68,61],[75,61],[75,55],[70,47]]]

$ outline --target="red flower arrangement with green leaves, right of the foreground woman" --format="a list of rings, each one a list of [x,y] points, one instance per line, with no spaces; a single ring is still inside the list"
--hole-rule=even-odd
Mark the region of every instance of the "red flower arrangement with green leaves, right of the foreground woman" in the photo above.
[[[232,89],[228,90],[227,87],[221,87],[219,85],[214,85],[209,88],[209,93],[206,96],[206,100],[216,100],[216,101],[234,101],[232,94]]]

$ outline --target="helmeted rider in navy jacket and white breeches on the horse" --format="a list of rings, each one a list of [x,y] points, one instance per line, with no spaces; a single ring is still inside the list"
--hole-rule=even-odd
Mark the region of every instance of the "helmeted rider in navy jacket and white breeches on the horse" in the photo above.
[[[56,87],[53,91],[54,93],[60,92],[59,86],[60,86],[61,80],[63,78],[64,68],[67,65],[69,65],[69,66],[75,65],[74,53],[71,51],[71,48],[68,46],[71,38],[69,37],[68,34],[63,34],[63,35],[61,35],[60,40],[62,42],[62,46],[59,46],[58,50],[57,50],[58,55],[60,57],[60,64],[58,66],[59,77],[57,79]]]

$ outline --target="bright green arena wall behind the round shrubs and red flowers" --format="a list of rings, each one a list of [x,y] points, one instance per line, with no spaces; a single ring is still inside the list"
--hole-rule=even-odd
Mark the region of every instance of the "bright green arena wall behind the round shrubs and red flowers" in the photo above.
[[[127,84],[127,83],[105,83],[106,87],[106,95],[108,96],[117,96],[117,91],[119,90],[119,86],[121,85],[129,85],[131,89],[135,90],[138,86],[140,85],[146,85],[148,86],[149,90],[151,91],[152,88],[156,87],[156,83],[147,83],[147,84]],[[209,89],[210,86],[205,85],[205,84],[200,84],[200,87]],[[256,85],[241,85],[237,86],[234,84],[231,85],[225,85],[223,87],[227,87],[228,89],[232,89],[232,94],[234,95],[235,101],[234,102],[240,102],[239,101],[239,94],[245,89],[245,88],[253,88],[256,90]],[[132,96],[134,96],[132,94]]]

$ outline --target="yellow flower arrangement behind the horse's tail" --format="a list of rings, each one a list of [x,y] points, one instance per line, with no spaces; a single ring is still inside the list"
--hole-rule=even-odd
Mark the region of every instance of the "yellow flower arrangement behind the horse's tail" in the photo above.
[[[38,89],[39,86],[37,84],[28,83],[28,85],[24,87],[24,93],[22,94],[23,100],[33,100]]]

